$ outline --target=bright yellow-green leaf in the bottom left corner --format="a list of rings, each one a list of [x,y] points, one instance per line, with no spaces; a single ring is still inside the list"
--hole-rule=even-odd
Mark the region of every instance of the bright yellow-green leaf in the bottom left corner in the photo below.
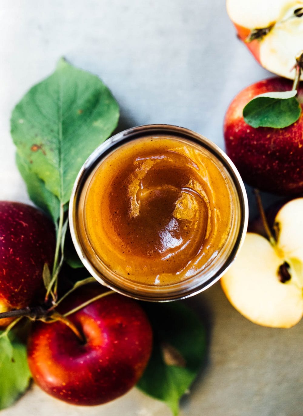
[[[30,384],[26,347],[0,338],[0,410],[11,406]]]

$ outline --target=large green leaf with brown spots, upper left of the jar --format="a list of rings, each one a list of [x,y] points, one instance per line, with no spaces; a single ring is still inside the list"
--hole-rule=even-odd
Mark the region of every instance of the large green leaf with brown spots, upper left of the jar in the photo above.
[[[106,85],[60,59],[55,72],[15,106],[11,133],[30,171],[65,204],[82,164],[110,136],[118,118],[118,104]]]

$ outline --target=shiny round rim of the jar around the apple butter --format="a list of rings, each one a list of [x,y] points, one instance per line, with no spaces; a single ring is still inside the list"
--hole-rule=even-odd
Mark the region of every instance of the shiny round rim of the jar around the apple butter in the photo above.
[[[90,174],[96,166],[101,163],[101,161],[106,158],[106,156],[113,152],[115,149],[120,147],[121,145],[128,143],[131,140],[135,139],[142,139],[148,136],[175,136],[177,139],[185,139],[191,142],[198,144],[199,146],[202,145],[204,149],[207,149],[211,154],[217,158],[224,168],[227,170],[229,177],[234,184],[236,189],[236,196],[239,198],[239,206],[240,206],[240,222],[239,222],[239,232],[236,235],[236,240],[230,250],[229,255],[222,265],[212,276],[210,276],[206,281],[203,282],[196,282],[187,290],[178,291],[178,286],[180,286],[183,282],[175,283],[173,285],[165,285],[163,287],[157,286],[157,290],[155,287],[150,287],[147,290],[147,286],[142,285],[145,287],[145,290],[138,291],[138,287],[140,284],[137,282],[135,286],[137,290],[126,290],[125,288],[118,285],[116,282],[109,280],[106,277],[106,270],[102,272],[92,264],[92,262],[87,258],[85,250],[81,244],[81,236],[79,236],[77,230],[77,208],[79,206],[79,198],[81,196],[81,191],[86,183],[87,179],[89,178]],[[133,297],[139,300],[147,300],[147,301],[155,301],[155,302],[166,302],[170,300],[177,300],[177,299],[184,299],[186,297],[190,297],[196,295],[208,287],[212,286],[215,282],[217,282],[220,277],[227,271],[227,269],[232,265],[232,262],[236,258],[237,253],[239,252],[241,245],[243,244],[246,229],[248,225],[248,201],[246,196],[246,191],[244,187],[244,183],[241,179],[239,172],[237,171],[234,163],[230,160],[230,158],[225,154],[225,152],[219,148],[216,144],[212,141],[207,139],[206,137],[195,133],[192,130],[186,129],[184,127],[174,126],[170,124],[148,124],[142,125],[137,127],[132,127],[130,129],[121,131],[118,134],[115,134],[111,138],[107,139],[103,142],[84,162],[82,168],[80,169],[76,181],[74,183],[74,187],[71,193],[71,198],[69,202],[69,227],[71,232],[71,238],[74,243],[75,249],[77,254],[79,255],[80,260],[84,264],[87,270],[91,272],[91,275],[102,285],[110,287],[111,289],[115,290],[122,295],[126,295],[129,297]],[[108,269],[109,270],[109,269]],[[202,273],[202,272],[200,272]],[[197,276],[199,273],[197,274]],[[197,277],[196,276],[196,277]],[[197,279],[196,279],[197,280]],[[165,291],[166,288],[166,291]],[[145,292],[144,294],[142,292]]]

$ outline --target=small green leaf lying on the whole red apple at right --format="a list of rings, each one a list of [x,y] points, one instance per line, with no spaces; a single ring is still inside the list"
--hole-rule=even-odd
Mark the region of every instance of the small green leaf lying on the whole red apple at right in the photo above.
[[[296,90],[268,92],[254,97],[243,109],[243,117],[252,127],[283,129],[298,120],[301,106]]]

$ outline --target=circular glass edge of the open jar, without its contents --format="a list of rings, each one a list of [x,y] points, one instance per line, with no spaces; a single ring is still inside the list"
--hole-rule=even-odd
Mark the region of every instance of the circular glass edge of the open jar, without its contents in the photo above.
[[[98,168],[102,161],[112,154],[120,146],[131,142],[135,139],[143,139],[148,136],[168,137],[182,139],[185,142],[193,143],[209,152],[216,163],[224,167],[224,171],[229,177],[232,187],[234,204],[234,225],[230,231],[228,246],[224,246],[218,255],[216,261],[211,262],[209,267],[197,275],[186,280],[168,284],[153,285],[140,282],[131,282],[130,280],[117,275],[95,253],[94,258],[89,253],[83,231],[79,226],[79,218],[81,217],[81,204],[83,198],[81,196],[87,191],[87,186],[92,173]],[[69,224],[71,237],[76,248],[79,258],[84,266],[91,272],[91,275],[102,285],[123,295],[133,297],[139,300],[165,302],[169,300],[183,299],[195,295],[209,286],[213,285],[227,271],[232,264],[237,252],[243,243],[248,223],[248,201],[244,183],[236,170],[232,161],[228,156],[212,141],[204,136],[197,134],[191,130],[166,125],[151,124],[146,126],[134,127],[112,136],[99,146],[82,166],[71,194],[69,203]],[[101,264],[102,263],[102,264]]]

